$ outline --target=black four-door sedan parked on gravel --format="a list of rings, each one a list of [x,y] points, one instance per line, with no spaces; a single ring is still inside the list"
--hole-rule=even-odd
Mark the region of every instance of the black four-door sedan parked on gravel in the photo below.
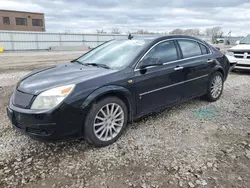
[[[225,55],[194,37],[130,36],[25,76],[7,113],[32,138],[106,146],[153,111],[200,96],[218,100],[229,68]]]

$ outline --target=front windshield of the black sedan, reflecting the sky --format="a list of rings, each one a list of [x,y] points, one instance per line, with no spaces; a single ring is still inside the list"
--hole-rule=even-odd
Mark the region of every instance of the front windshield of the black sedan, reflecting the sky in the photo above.
[[[100,64],[111,69],[120,69],[129,65],[148,42],[149,40],[145,39],[112,40],[93,49],[76,61],[86,65]]]

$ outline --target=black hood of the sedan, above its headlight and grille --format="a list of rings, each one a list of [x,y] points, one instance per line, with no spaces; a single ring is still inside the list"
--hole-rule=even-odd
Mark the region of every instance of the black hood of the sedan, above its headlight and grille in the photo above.
[[[77,63],[65,63],[28,74],[18,83],[17,89],[37,95],[53,87],[84,82],[116,71]]]

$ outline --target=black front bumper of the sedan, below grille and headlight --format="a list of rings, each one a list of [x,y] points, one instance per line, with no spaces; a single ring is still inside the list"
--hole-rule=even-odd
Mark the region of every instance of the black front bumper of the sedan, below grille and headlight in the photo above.
[[[50,111],[23,109],[14,106],[12,98],[7,107],[7,115],[14,128],[31,138],[57,141],[83,136],[84,116],[81,109],[67,104]]]

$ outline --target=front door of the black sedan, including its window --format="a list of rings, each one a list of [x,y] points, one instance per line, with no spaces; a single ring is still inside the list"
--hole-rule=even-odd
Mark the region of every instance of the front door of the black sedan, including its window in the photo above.
[[[177,70],[180,58],[173,40],[162,41],[154,45],[141,59],[158,58],[160,66],[151,66],[140,70],[142,61],[134,72],[134,86],[137,98],[137,114],[142,115],[157,108],[174,103],[181,98],[181,71]]]

